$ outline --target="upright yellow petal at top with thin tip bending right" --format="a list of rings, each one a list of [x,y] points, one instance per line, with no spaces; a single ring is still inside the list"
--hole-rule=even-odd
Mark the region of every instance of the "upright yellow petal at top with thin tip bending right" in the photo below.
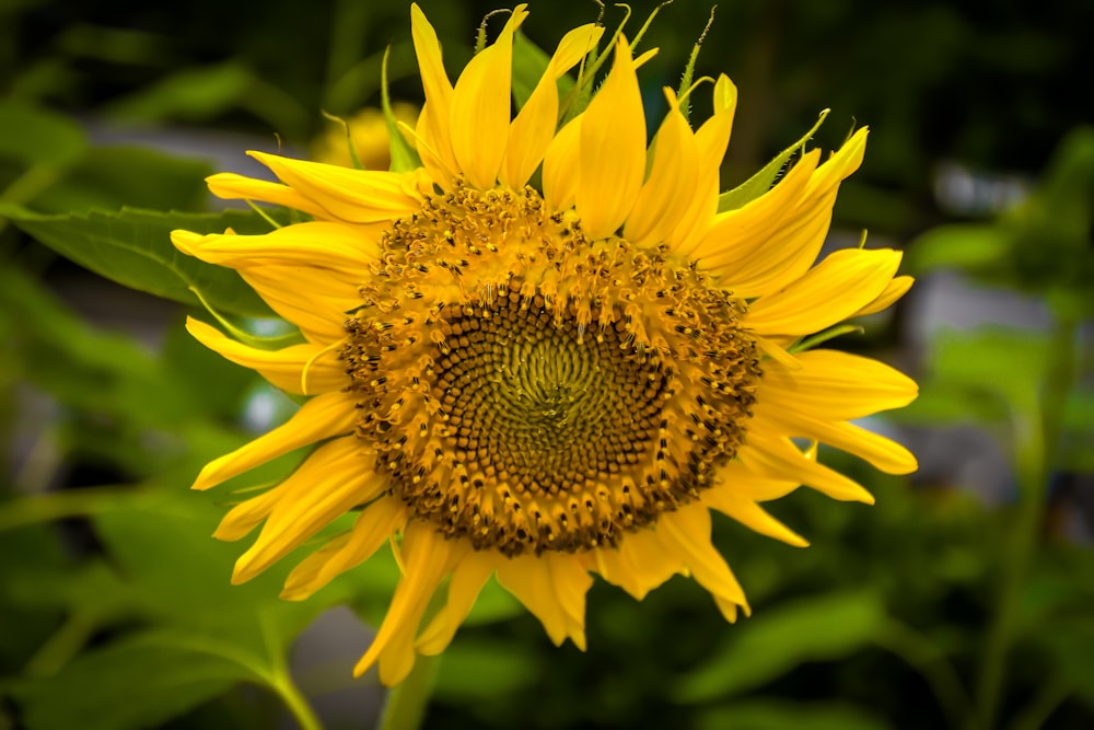
[[[517,5],[492,46],[468,61],[456,81],[449,112],[452,152],[479,189],[493,187],[509,142],[513,33],[527,18]]]

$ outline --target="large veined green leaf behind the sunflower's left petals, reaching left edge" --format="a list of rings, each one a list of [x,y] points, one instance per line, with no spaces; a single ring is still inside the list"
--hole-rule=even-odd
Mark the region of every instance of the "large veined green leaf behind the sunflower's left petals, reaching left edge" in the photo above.
[[[42,215],[0,204],[10,219],[60,255],[130,289],[200,306],[191,289],[220,312],[272,317],[269,306],[235,271],[187,256],[171,243],[171,231],[265,233],[269,224],[255,212],[156,212],[123,208],[118,212]]]

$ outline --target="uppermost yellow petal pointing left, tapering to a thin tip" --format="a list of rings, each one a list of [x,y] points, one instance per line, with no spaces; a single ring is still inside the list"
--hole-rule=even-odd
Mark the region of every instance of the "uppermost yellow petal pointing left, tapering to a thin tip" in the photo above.
[[[248,154],[301,195],[322,206],[330,217],[344,221],[391,221],[421,207],[414,173],[351,170],[264,152]]]

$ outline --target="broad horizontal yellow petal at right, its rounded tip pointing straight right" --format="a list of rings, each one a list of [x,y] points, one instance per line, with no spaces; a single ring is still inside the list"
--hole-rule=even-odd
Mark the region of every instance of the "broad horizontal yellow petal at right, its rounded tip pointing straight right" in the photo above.
[[[858,355],[808,350],[798,354],[798,363],[793,370],[766,368],[758,399],[817,418],[851,420],[906,406],[919,393],[904,373]]]

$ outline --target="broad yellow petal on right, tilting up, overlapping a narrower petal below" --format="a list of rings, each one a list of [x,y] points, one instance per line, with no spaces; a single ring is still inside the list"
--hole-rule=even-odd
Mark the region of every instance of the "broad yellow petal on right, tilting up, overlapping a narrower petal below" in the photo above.
[[[842,322],[874,301],[893,280],[901,254],[845,248],[805,276],[748,305],[744,324],[761,335],[808,335]]]

